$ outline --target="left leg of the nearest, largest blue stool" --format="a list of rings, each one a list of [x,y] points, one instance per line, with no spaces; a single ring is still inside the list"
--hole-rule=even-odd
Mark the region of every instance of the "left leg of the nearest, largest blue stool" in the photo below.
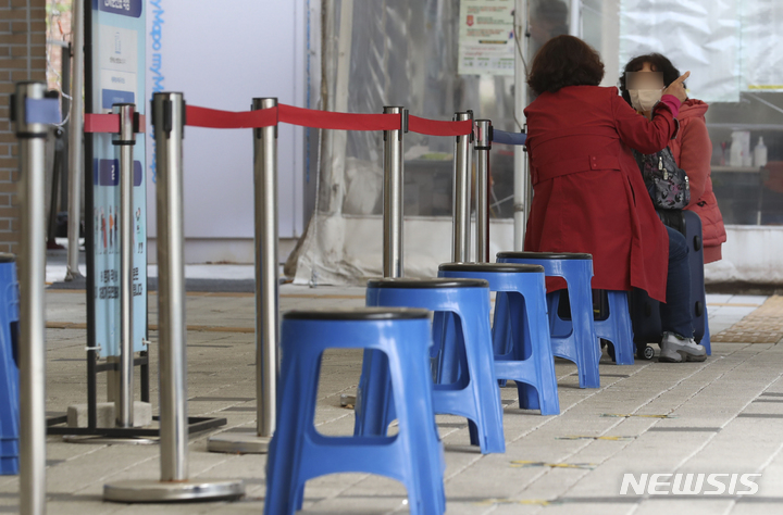
[[[304,481],[301,455],[306,432],[315,430],[321,356],[283,354],[277,394],[277,427],[266,462],[265,515],[293,515],[301,507]]]

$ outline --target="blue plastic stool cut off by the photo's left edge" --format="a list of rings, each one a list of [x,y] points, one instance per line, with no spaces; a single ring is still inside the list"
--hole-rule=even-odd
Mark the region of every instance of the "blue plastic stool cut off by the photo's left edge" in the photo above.
[[[0,253],[0,475],[18,474],[18,284],[13,254]]]

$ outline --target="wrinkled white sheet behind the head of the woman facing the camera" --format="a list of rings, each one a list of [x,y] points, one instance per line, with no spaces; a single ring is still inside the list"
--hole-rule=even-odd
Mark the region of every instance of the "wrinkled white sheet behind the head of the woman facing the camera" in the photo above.
[[[620,70],[636,55],[668,56],[693,96],[739,100],[739,0],[621,0]]]

